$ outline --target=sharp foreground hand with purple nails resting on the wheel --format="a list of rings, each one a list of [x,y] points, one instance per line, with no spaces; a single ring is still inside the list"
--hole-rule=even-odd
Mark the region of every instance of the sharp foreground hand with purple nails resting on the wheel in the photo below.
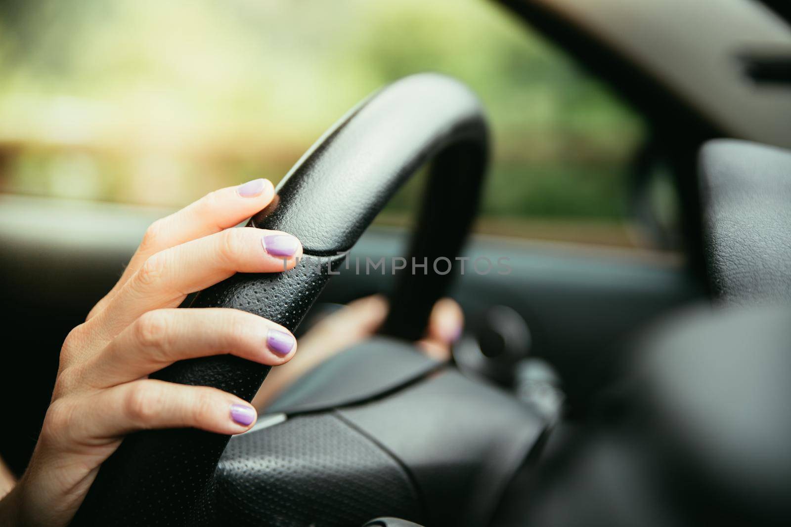
[[[0,502],[3,525],[66,525],[101,464],[132,431],[196,427],[239,434],[252,427],[255,408],[238,397],[147,376],[198,356],[230,353],[270,365],[293,356],[291,333],[255,314],[175,309],[188,293],[233,273],[276,273],[296,264],[302,248],[293,236],[231,228],[273,196],[272,184],[256,179],[151,225],[118,283],[63,343],[36,450]]]

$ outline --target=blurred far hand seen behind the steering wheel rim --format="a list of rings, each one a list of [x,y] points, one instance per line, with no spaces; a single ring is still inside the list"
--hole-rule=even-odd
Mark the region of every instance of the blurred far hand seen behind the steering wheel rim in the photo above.
[[[299,356],[288,364],[273,368],[267,381],[255,395],[252,403],[259,411],[267,408],[278,394],[296,382],[302,375],[327,358],[358,344],[384,322],[388,303],[383,296],[373,295],[354,300],[340,311],[322,318],[299,341]],[[437,360],[450,359],[450,346],[461,334],[464,314],[452,299],[441,299],[434,304],[426,328],[426,337],[418,347]]]

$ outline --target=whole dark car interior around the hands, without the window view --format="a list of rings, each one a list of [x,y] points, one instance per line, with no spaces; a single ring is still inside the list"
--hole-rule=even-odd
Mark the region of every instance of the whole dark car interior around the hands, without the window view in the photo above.
[[[354,106],[250,220],[301,239],[297,269],[237,274],[184,307],[250,311],[299,336],[384,293],[380,334],[309,371],[252,431],[127,437],[74,525],[788,525],[788,6],[476,3],[539,34],[644,123],[623,194],[650,242],[486,227],[489,173],[508,139],[464,78],[399,72],[347,94]],[[25,393],[25,405],[4,406],[15,431],[0,434],[0,455],[17,474],[63,339],[171,210],[17,192],[4,178],[24,149],[0,141],[0,386],[5,401]],[[391,200],[409,201],[411,220],[382,222]],[[438,258],[454,272],[408,272]],[[445,295],[466,319],[449,363],[410,344]],[[249,401],[268,370],[217,356],[156,377]]]

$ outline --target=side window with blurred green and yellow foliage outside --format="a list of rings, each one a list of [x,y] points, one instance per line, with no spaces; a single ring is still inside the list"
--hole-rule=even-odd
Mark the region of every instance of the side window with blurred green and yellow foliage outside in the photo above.
[[[276,181],[361,97],[433,70],[465,81],[490,114],[479,232],[637,243],[627,188],[644,123],[490,2],[10,5],[2,192],[177,206]],[[380,223],[407,221],[418,183]]]

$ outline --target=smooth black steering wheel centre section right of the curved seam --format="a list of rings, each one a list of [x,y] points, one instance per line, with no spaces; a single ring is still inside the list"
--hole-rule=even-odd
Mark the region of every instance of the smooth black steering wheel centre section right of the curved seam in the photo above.
[[[453,527],[490,525],[506,485],[547,428],[532,406],[450,367],[336,413],[398,458],[426,502],[422,517],[380,515]]]

